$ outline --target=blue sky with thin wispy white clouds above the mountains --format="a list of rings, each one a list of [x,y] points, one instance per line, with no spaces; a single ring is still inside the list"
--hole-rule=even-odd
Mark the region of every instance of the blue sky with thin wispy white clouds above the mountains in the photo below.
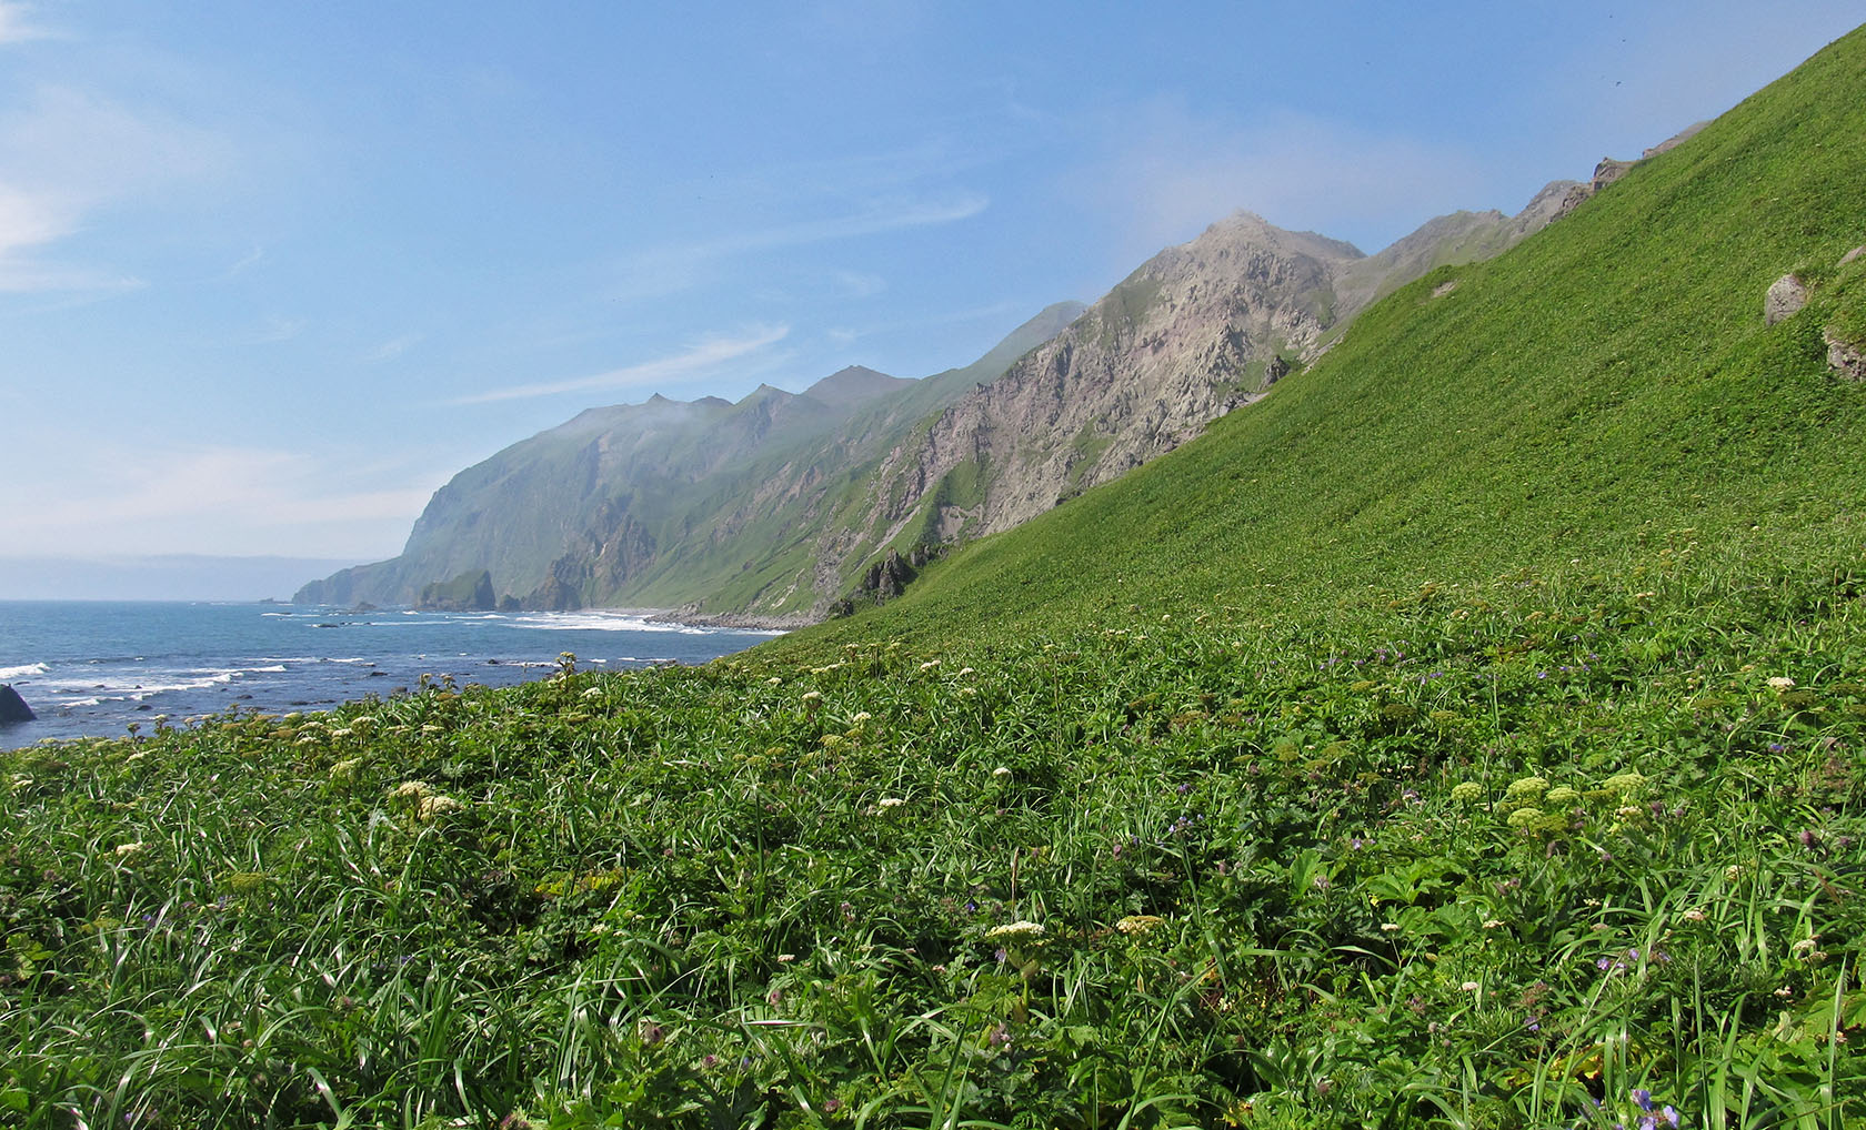
[[[1235,209],[1515,211],[1862,19],[1319,7],[0,0],[0,556],[394,556],[586,407],[963,365]]]

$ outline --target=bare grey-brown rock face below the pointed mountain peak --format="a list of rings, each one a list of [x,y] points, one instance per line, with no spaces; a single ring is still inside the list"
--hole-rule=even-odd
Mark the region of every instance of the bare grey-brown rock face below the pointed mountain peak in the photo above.
[[[896,448],[870,494],[877,528],[1010,530],[1177,448],[1319,352],[1347,313],[1332,283],[1362,257],[1248,213],[1161,252]]]

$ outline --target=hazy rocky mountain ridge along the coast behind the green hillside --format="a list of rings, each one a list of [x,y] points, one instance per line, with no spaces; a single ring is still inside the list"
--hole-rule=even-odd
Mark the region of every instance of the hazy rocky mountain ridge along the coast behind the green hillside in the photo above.
[[[1237,213],[965,369],[849,367],[737,405],[590,408],[455,475],[399,558],[297,600],[810,623],[864,595],[883,554],[1008,530],[1174,449],[1319,356],[1375,296],[1513,246],[1575,188],[1551,183],[1515,216],[1439,216],[1379,255]]]

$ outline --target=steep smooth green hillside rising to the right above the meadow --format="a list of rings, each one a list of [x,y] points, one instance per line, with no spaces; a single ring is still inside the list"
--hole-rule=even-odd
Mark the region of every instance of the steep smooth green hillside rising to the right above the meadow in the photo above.
[[[1823,52],[1515,252],[1403,287],[1170,459],[789,647],[1595,569],[1681,528],[1720,554],[1853,546],[1866,390],[1823,330],[1866,270],[1836,267],[1866,242],[1860,67],[1857,39]],[[1812,304],[1765,326],[1789,270]]]

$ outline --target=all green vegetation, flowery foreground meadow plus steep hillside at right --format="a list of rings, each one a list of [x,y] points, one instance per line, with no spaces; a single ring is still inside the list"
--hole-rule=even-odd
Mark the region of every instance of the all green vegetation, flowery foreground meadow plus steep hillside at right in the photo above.
[[[1862,69],[879,615],[7,753],[0,1123],[1859,1124]]]

